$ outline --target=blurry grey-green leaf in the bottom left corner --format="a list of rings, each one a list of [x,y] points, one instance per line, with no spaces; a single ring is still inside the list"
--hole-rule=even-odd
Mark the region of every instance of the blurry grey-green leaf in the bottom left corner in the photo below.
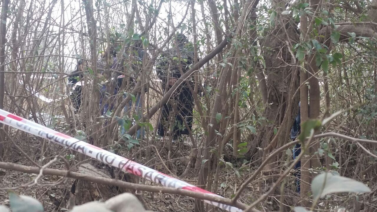
[[[9,203],[11,204],[12,212],[43,212],[42,204],[28,196],[17,195],[14,192],[9,192]]]

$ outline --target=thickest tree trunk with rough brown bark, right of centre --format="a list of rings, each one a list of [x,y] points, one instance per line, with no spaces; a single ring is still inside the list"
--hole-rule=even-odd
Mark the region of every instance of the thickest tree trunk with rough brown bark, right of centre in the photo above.
[[[276,18],[274,22],[271,22],[270,32],[266,35],[261,44],[263,49],[263,55],[265,60],[266,88],[267,89],[267,103],[265,104],[265,111],[262,116],[269,122],[265,123],[257,132],[257,136],[252,142],[249,143],[248,157],[261,155],[261,152],[257,152],[257,147],[264,149],[272,140],[274,134],[274,128],[281,130],[280,135],[286,135],[290,130],[290,126],[282,126],[285,111],[288,109],[289,90],[290,85],[293,85],[293,89],[296,90],[299,84],[299,77],[292,82],[292,72],[296,67],[294,64],[294,55],[290,53],[291,43],[297,43],[299,40],[299,34],[297,32],[297,26],[293,24],[289,19],[281,14],[285,10],[285,3],[281,0],[273,0],[272,8],[276,12]],[[264,85],[264,77],[262,74],[258,76],[258,80]],[[261,87],[263,88],[263,87]],[[263,91],[264,92],[264,91]],[[297,110],[298,98],[295,98],[293,102],[293,108]],[[293,110],[294,112],[295,110]],[[289,121],[285,123],[291,123],[294,116],[291,115]],[[285,124],[288,125],[288,124]],[[279,138],[284,140],[285,138]],[[282,142],[277,142],[282,143]]]

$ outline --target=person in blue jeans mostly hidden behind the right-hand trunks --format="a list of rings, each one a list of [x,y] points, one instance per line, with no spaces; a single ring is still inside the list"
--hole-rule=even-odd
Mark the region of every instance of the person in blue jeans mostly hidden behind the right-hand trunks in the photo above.
[[[301,108],[301,103],[299,103],[299,112],[294,120],[293,126],[291,128],[291,139],[296,140],[297,136],[299,136],[301,132],[301,115],[300,115],[300,108]],[[297,143],[294,148],[293,148],[293,159],[296,159],[299,154],[301,153],[301,144]],[[294,176],[297,178],[296,180],[296,186],[297,186],[297,193],[300,193],[300,177],[301,177],[301,161],[298,161],[297,164],[294,166],[294,170],[296,172],[294,173]]]

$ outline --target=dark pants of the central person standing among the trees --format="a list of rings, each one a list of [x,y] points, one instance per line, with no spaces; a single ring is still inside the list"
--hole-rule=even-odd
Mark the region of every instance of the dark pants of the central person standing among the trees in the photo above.
[[[169,102],[164,104],[161,112],[161,118],[158,123],[158,134],[160,136],[165,135],[165,131],[169,131],[170,128],[170,113],[176,108],[178,111],[177,115],[172,117],[173,122],[173,139],[180,137],[181,135],[188,135],[189,130],[187,129],[184,120],[187,122],[190,130],[192,128],[193,121],[193,106],[194,99],[187,86],[182,86],[173,93],[171,101],[173,105]]]

